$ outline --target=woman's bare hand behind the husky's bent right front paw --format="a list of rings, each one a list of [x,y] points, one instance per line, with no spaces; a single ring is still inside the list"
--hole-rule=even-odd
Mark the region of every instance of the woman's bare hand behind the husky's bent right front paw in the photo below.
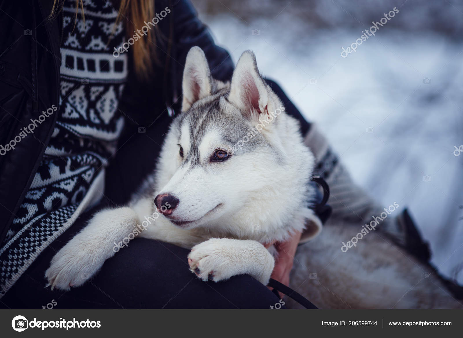
[[[294,255],[301,235],[302,232],[297,232],[286,242],[274,243],[278,258],[275,261],[275,268],[270,277],[286,286],[289,286],[289,273],[293,268]],[[280,296],[282,296],[282,293],[280,293]]]

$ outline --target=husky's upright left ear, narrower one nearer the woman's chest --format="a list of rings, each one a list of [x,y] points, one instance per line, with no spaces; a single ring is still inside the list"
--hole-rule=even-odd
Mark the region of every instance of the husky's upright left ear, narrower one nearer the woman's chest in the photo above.
[[[194,102],[211,95],[212,79],[206,55],[200,47],[191,47],[183,70],[183,101],[181,111],[187,111]]]

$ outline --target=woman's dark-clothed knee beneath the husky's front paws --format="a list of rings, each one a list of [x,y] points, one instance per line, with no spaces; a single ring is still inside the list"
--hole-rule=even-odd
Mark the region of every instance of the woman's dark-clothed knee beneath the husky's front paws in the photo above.
[[[249,275],[218,283],[200,280],[189,271],[188,253],[169,243],[136,239],[106,261],[94,284],[120,294],[125,307],[270,308],[278,302]]]

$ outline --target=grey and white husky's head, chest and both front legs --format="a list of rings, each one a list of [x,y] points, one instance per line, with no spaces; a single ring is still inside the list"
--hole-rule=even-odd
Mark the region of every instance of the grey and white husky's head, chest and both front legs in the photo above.
[[[182,90],[155,174],[128,206],[98,212],[56,253],[45,273],[52,288],[82,285],[82,273],[94,275],[119,250],[114,243],[135,235],[191,249],[190,270],[204,281],[250,274],[266,285],[275,265],[266,247],[306,224],[318,234],[308,208],[314,156],[254,54],[245,51],[223,83],[193,47]]]

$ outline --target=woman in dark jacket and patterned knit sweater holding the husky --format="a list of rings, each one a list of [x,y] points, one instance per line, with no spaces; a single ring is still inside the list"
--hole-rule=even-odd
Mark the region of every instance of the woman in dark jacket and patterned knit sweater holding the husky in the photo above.
[[[202,48],[217,79],[229,80],[233,64],[188,0],[4,1],[0,13],[6,32],[0,37],[2,306],[40,308],[55,300],[58,308],[269,308],[278,302],[250,276],[195,280],[188,250],[144,239],[83,287],[44,288],[56,251],[96,210],[125,203],[154,168],[180,111],[189,49]],[[309,124],[269,83],[307,133]],[[285,284],[299,240],[300,234],[278,246],[272,277]]]

